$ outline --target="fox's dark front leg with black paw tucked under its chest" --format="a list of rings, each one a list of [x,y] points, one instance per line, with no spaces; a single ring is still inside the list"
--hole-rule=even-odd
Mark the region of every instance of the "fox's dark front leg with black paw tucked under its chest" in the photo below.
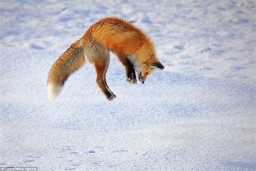
[[[116,52],[117,57],[120,59],[120,61],[122,62],[122,64],[125,66],[125,70],[126,70],[126,80],[129,83],[133,83],[136,84],[137,80],[136,80],[136,73],[134,70],[134,66],[131,63],[130,59],[127,58],[127,56],[123,53],[120,52]]]

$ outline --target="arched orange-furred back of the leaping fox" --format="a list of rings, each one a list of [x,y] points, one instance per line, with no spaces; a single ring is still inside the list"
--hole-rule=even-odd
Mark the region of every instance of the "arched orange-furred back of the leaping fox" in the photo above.
[[[124,53],[135,53],[149,38],[133,24],[116,17],[107,17],[93,24],[85,33],[104,44],[112,51],[122,50]]]

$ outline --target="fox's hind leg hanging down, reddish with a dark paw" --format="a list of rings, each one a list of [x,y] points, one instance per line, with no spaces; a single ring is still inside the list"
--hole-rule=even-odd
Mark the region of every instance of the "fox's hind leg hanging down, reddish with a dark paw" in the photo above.
[[[106,56],[98,56],[98,60],[95,61],[95,69],[97,72],[96,83],[98,84],[100,90],[106,95],[107,99],[113,100],[116,95],[110,90],[106,83],[106,72],[109,67],[109,52]]]

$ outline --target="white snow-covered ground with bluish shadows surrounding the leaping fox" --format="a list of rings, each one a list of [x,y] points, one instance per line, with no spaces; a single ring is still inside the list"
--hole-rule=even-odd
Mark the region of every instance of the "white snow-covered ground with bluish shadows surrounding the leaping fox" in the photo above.
[[[255,1],[0,1],[0,166],[255,170]],[[54,61],[106,16],[134,21],[164,71],[108,101],[86,63],[49,102]]]

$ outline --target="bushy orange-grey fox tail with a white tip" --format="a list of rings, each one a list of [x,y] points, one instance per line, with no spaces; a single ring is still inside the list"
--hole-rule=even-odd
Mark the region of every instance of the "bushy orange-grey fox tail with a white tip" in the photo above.
[[[47,93],[49,100],[55,99],[71,73],[85,63],[83,39],[73,43],[52,65],[48,76]]]

